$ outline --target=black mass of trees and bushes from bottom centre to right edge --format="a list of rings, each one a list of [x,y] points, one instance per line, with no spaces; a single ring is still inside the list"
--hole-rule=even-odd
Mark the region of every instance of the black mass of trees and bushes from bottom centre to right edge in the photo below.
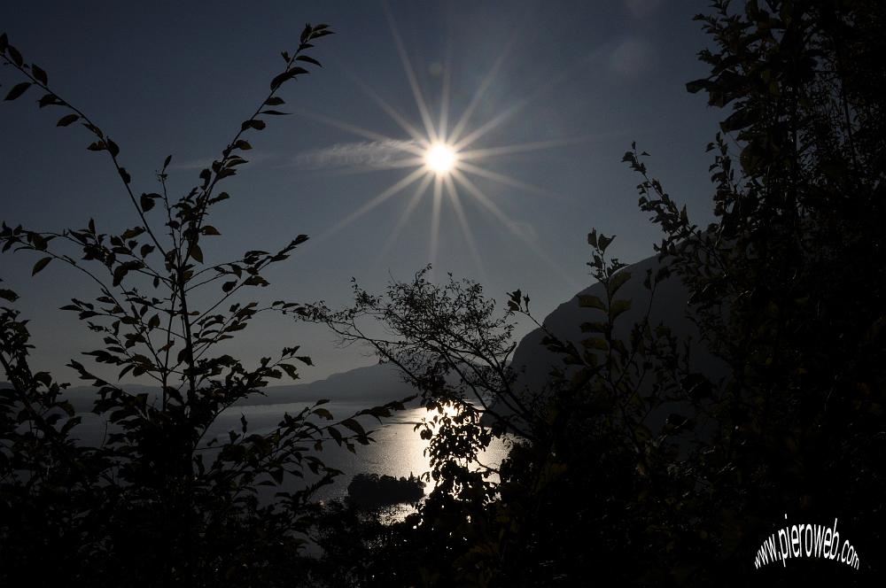
[[[547,334],[563,364],[543,390],[518,390],[508,363],[511,319],[531,317],[520,290],[500,319],[477,284],[438,286],[424,274],[382,297],[357,289],[346,311],[313,309],[397,364],[426,406],[458,408],[423,430],[442,483],[385,543],[402,557],[370,568],[365,584],[882,576],[884,17],[882,3],[863,0],[723,1],[698,17],[714,42],[700,53],[711,75],[688,89],[731,108],[709,145],[716,221],[693,224],[649,174],[648,154],[628,151],[641,210],[664,232],[662,270],[645,276],[648,299],[619,299],[641,276],[606,259],[611,237],[588,236],[605,297],[579,299],[580,345]],[[648,311],[614,335],[619,316],[650,305],[669,274],[688,287],[703,344],[727,366],[722,381],[690,369],[688,342]],[[392,336],[367,335],[366,320]],[[519,437],[497,479],[468,467],[505,431]],[[755,569],[785,514],[839,517],[861,569],[814,558]]]

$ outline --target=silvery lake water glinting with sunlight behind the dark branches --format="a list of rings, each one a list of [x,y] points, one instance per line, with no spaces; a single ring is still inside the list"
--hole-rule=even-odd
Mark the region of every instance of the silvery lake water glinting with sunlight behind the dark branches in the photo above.
[[[297,414],[305,405],[293,403],[286,405],[264,406],[235,406],[221,414],[214,423],[206,439],[212,436],[227,437],[229,430],[240,432],[241,414],[246,417],[250,433],[268,433],[276,428],[276,425],[285,412]],[[359,412],[362,408],[371,406],[369,403],[329,403],[323,407],[333,414],[336,421],[344,419],[351,414]],[[82,442],[95,444],[100,442],[105,434],[104,420],[95,414],[81,414],[82,424],[74,429],[74,437],[80,437]],[[347,484],[351,478],[361,473],[374,473],[379,476],[420,476],[431,468],[430,460],[424,455],[428,442],[419,437],[419,431],[414,430],[417,422],[425,416],[431,416],[422,407],[408,408],[392,414],[384,419],[382,424],[374,418],[361,417],[361,424],[369,431],[370,437],[376,443],[370,445],[356,445],[356,453],[350,453],[345,448],[340,448],[335,442],[324,444],[322,453],[317,456],[332,468],[343,472],[336,482],[318,491],[316,498],[319,500],[341,499],[346,496]],[[345,429],[346,430],[346,429]],[[343,432],[345,432],[343,430]],[[492,468],[497,468],[501,460],[507,455],[509,443],[504,440],[494,439],[493,444],[487,448],[481,460]],[[211,462],[209,455],[205,458],[206,463]],[[307,469],[306,469],[307,472]],[[310,475],[309,472],[307,472]],[[262,489],[261,494],[272,497],[273,493],[280,490],[293,490],[294,481],[285,482],[283,487]],[[425,486],[425,493],[431,490],[433,481]]]

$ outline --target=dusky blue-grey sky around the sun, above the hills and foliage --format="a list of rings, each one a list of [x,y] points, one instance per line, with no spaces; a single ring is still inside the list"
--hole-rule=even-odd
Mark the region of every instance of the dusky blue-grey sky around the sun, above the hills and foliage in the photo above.
[[[620,259],[652,253],[657,231],[620,162],[632,141],[696,221],[711,218],[704,147],[719,112],[684,86],[706,72],[692,16],[707,4],[56,0],[4,3],[0,23],[120,144],[139,191],[156,190],[168,154],[172,187],[188,190],[265,95],[279,52],[298,45],[305,22],[329,24],[336,35],[310,53],[323,69],[284,87],[281,110],[293,115],[250,136],[252,163],[226,183],[232,198],[213,219],[223,237],[203,244],[206,261],[306,233],[257,298],[342,305],[352,276],[379,290],[433,262],[438,276],[477,279],[494,298],[522,289],[543,318],[589,285],[591,228],[618,236]],[[12,74],[0,71],[4,94]],[[60,114],[39,111],[37,97],[0,104],[0,219],[51,230],[89,217],[105,230],[136,224],[113,168],[84,149],[86,131],[55,128]],[[35,260],[6,254],[0,277],[32,319],[35,367],[73,380],[59,367],[89,334],[54,309],[91,288],[58,264],[32,279]],[[243,357],[301,344],[317,366],[304,381],[372,361],[279,319],[241,335],[231,351]]]

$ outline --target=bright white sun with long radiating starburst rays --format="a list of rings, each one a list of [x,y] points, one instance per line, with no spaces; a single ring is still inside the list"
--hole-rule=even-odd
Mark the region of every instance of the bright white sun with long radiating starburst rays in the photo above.
[[[458,118],[458,120],[455,121],[455,124],[450,125],[450,67],[448,66],[448,63],[446,66],[443,67],[442,70],[442,89],[439,97],[439,118],[437,118],[437,120],[435,121],[435,117],[431,115],[431,109],[429,108],[428,103],[424,98],[422,88],[416,79],[415,70],[413,69],[413,66],[410,63],[408,57],[408,51],[405,49],[403,41],[400,38],[400,33],[398,32],[392,14],[386,6],[385,12],[387,13],[393,42],[400,56],[400,62],[403,66],[403,71],[406,74],[409,88],[411,89],[412,95],[415,99],[419,119],[421,120],[420,127],[416,127],[416,125],[409,122],[406,115],[404,115],[402,112],[397,111],[395,108],[392,107],[391,104],[385,102],[383,98],[378,96],[377,92],[374,89],[369,88],[369,86],[367,86],[363,81],[359,80],[354,74],[349,75],[358,84],[358,86],[360,86],[362,91],[388,116],[390,116],[394,122],[397,123],[397,125],[408,136],[408,138],[403,139],[383,135],[373,130],[360,128],[344,121],[330,119],[316,113],[303,113],[333,127],[340,128],[354,135],[361,136],[364,139],[368,139],[369,141],[373,142],[373,144],[377,144],[379,146],[384,145],[385,150],[395,150],[399,153],[399,157],[395,159],[385,159],[385,165],[355,167],[353,170],[354,172],[361,173],[378,169],[391,169],[398,167],[404,169],[412,167],[413,169],[411,172],[408,172],[408,174],[403,176],[399,181],[394,182],[392,186],[390,186],[386,190],[381,191],[374,197],[369,197],[365,204],[361,205],[353,213],[348,214],[345,218],[338,221],[337,224],[323,233],[323,235],[321,235],[319,239],[322,240],[323,238],[338,233],[338,231],[340,231],[342,228],[345,228],[347,225],[350,225],[354,221],[357,221],[363,215],[375,209],[378,205],[382,205],[389,198],[394,197],[404,191],[407,191],[411,186],[415,185],[416,190],[413,191],[412,197],[402,208],[400,217],[398,218],[394,228],[392,229],[392,232],[388,236],[384,247],[380,251],[380,256],[384,257],[385,254],[390,251],[393,244],[395,244],[397,239],[399,238],[400,232],[407,225],[410,216],[412,215],[412,213],[415,212],[419,202],[430,192],[431,263],[433,264],[434,262],[436,262],[439,252],[440,215],[442,206],[444,202],[446,202],[447,205],[451,206],[453,212],[455,213],[455,218],[457,219],[459,228],[462,231],[464,243],[467,244],[468,248],[470,249],[471,258],[477,265],[480,274],[485,275],[485,269],[483,267],[482,259],[479,255],[473,233],[470,230],[468,215],[465,213],[464,207],[462,206],[462,196],[464,196],[469,197],[476,204],[485,208],[489,213],[492,214],[495,221],[501,223],[501,226],[508,230],[512,235],[517,236],[517,238],[520,239],[530,250],[532,250],[541,259],[547,262],[549,267],[552,267],[565,279],[569,280],[569,282],[572,282],[571,276],[569,276],[562,267],[559,267],[554,259],[551,259],[544,251],[542,251],[539,245],[536,244],[536,242],[532,238],[526,236],[523,231],[519,230],[521,223],[512,220],[509,215],[502,211],[501,208],[495,204],[494,200],[491,197],[487,196],[486,193],[478,187],[477,183],[472,181],[469,177],[474,176],[475,179],[482,178],[487,181],[497,182],[503,185],[507,185],[511,188],[516,188],[517,190],[522,190],[535,195],[562,198],[560,195],[557,195],[550,190],[545,190],[544,188],[532,185],[531,183],[522,182],[520,180],[517,180],[516,178],[512,178],[509,175],[501,174],[498,172],[494,172],[491,169],[487,169],[483,166],[483,162],[487,159],[492,159],[495,157],[513,155],[516,153],[525,153],[528,151],[550,149],[552,147],[569,143],[578,143],[585,140],[583,138],[571,138],[561,140],[536,141],[532,143],[506,144],[494,147],[487,147],[483,149],[478,149],[475,147],[476,143],[478,143],[478,141],[482,137],[487,135],[494,128],[499,128],[503,123],[516,115],[517,112],[520,112],[523,108],[525,108],[525,106],[529,104],[532,99],[540,97],[542,93],[540,91],[537,92],[533,97],[524,98],[517,104],[513,104],[510,107],[503,109],[490,120],[486,120],[485,122],[478,124],[473,128],[471,127],[471,121],[474,118],[478,105],[481,103],[486,90],[491,87],[495,75],[501,69],[502,64],[509,55],[509,51],[513,43],[517,39],[517,31],[515,31],[514,36],[511,38],[511,41],[509,43],[506,43],[502,48],[501,54],[498,56],[498,58],[495,59],[494,65],[492,66],[491,70],[488,72],[484,80],[481,81],[478,88],[475,90],[473,96],[470,98],[470,102],[468,103],[467,107],[461,113],[461,116]]]

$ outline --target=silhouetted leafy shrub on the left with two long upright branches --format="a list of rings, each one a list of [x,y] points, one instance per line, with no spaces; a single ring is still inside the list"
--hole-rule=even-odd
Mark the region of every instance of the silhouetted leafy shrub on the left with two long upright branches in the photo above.
[[[220,183],[246,163],[252,145],[245,137],[265,128],[268,116],[282,114],[273,109],[284,104],[279,90],[308,73],[303,65],[319,66],[305,51],[330,34],[326,25],[305,27],[297,48],[282,54],[284,68],[267,96],[219,159],[200,172],[198,184],[178,198],[167,185],[171,156],[157,174],[157,191],[139,194],[122,166],[118,143],[51,89],[45,71],[0,36],[4,65],[25,80],[6,99],[38,90],[40,108],[64,112],[59,127],[85,128],[91,135],[87,149],[107,156],[138,218],[120,233],[102,232],[92,220],[61,232],[4,223],[3,251],[37,252],[33,274],[57,261],[95,282],[94,301],[72,299],[63,307],[103,342],[85,355],[119,368],[118,380],[150,378],[161,391],[159,398],[130,393],[71,360],[69,366],[97,388],[93,412],[108,423],[100,445],[75,444],[80,417],[64,400],[64,386],[31,371],[26,321],[12,308],[2,309],[0,358],[10,383],[0,396],[4,583],[289,584],[304,568],[299,556],[313,524],[310,501],[338,475],[316,452],[330,442],[350,451],[369,444],[371,431],[356,417],[381,419],[402,408],[392,402],[338,421],[322,406],[326,401],[318,400],[284,414],[266,434],[250,432],[245,418],[224,436],[210,433],[237,400],[261,393],[270,380],[298,377],[299,363],[311,365],[297,345],[255,365],[216,351],[258,313],[304,311],[282,300],[260,306],[234,297],[268,286],[264,270],[287,259],[307,236],[275,252],[246,251],[214,266],[206,266],[203,247],[220,235],[208,222],[210,213],[229,197],[218,190]],[[195,293],[210,289],[214,298],[195,307]],[[10,290],[2,296],[15,298]],[[262,486],[273,491],[284,482],[289,491],[260,499]]]

